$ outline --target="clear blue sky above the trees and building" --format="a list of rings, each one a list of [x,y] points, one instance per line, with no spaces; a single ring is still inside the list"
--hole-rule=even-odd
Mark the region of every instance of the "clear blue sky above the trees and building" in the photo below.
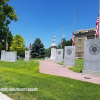
[[[73,32],[81,29],[96,27],[99,13],[99,0],[11,0],[9,5],[14,7],[18,21],[12,21],[9,30],[15,36],[21,34],[25,45],[34,43],[40,38],[45,48],[51,46],[53,35],[55,43],[61,42],[62,24],[66,40],[70,40]]]

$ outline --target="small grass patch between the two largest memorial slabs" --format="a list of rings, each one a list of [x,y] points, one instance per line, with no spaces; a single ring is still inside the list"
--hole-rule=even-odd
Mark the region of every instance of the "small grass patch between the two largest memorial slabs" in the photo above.
[[[68,69],[70,69],[74,72],[81,73],[83,70],[83,59],[76,59],[75,63],[76,63],[76,66],[69,67]]]

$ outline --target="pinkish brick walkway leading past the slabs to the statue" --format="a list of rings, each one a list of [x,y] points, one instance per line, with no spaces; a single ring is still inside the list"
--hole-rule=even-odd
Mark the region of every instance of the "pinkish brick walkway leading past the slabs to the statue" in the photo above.
[[[82,73],[76,73],[68,69],[68,66],[63,67],[63,65],[56,64],[53,61],[39,61],[40,62],[40,72],[45,74],[51,74],[56,76],[68,77],[71,79],[91,82],[95,84],[100,84],[100,77],[93,75],[83,75]],[[91,79],[85,79],[84,77],[91,77]]]

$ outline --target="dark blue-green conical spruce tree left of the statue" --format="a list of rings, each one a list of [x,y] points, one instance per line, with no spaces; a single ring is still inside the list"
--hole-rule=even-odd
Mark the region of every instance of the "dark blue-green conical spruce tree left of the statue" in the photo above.
[[[31,55],[33,58],[43,58],[45,55],[45,48],[40,38],[36,38],[32,44]]]

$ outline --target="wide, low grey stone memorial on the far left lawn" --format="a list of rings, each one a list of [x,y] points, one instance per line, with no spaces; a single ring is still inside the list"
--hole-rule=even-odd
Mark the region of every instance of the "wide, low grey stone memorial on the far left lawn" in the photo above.
[[[17,52],[5,52],[4,53],[4,61],[8,62],[17,62]]]

